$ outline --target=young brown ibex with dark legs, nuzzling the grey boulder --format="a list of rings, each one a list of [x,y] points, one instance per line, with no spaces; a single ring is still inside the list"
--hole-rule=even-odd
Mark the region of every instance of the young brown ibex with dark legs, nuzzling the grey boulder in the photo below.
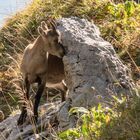
[[[21,72],[23,73],[25,83],[25,100],[29,100],[30,85],[37,82],[38,90],[35,96],[33,106],[34,119],[38,118],[38,106],[44,88],[52,87],[59,89],[62,93],[62,101],[65,100],[66,86],[62,80],[64,77],[64,65],[62,57],[65,54],[64,47],[61,44],[61,35],[56,30],[54,21],[51,21],[52,29],[49,29],[43,21],[38,27],[40,34],[33,44],[29,44],[23,54],[21,61]],[[18,125],[23,124],[27,116],[25,103],[22,107],[21,115],[18,119]]]

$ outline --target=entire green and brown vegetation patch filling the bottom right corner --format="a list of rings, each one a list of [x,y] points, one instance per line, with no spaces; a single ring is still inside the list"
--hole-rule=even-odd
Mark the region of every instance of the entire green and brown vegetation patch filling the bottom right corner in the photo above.
[[[76,114],[76,128],[59,134],[61,140],[128,140],[140,139],[140,97],[132,100],[114,97],[112,108],[72,108],[70,115]]]

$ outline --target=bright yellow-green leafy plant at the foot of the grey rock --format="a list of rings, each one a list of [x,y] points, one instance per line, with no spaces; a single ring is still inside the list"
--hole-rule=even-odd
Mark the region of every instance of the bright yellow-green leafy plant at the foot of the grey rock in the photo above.
[[[97,108],[87,110],[84,108],[72,108],[74,113],[84,113],[78,115],[77,127],[68,129],[60,133],[59,138],[62,140],[66,139],[78,139],[94,140],[101,135],[101,130],[110,123],[115,117],[115,113],[110,108],[103,108],[99,105]],[[73,111],[72,111],[73,112]],[[70,113],[72,113],[70,111]]]

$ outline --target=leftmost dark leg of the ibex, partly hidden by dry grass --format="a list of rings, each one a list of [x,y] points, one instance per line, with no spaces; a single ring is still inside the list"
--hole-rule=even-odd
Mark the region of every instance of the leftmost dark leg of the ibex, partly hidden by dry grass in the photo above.
[[[18,125],[22,125],[25,122],[26,117],[27,117],[26,101],[29,100],[29,92],[30,92],[30,83],[28,81],[28,77],[25,78],[24,84],[25,84],[24,85],[24,88],[25,88],[24,103],[23,103],[23,106],[22,106],[22,111],[21,111],[20,117],[17,121]]]

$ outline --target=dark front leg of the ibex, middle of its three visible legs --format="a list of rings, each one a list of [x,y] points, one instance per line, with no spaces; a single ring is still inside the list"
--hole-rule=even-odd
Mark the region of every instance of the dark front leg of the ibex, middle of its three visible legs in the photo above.
[[[43,80],[41,80],[39,78],[38,79],[38,90],[37,90],[37,93],[35,96],[34,109],[33,109],[35,122],[37,122],[37,119],[38,119],[38,106],[39,106],[40,99],[41,99],[42,93],[44,91],[45,85],[46,85],[46,83],[43,82]]]

